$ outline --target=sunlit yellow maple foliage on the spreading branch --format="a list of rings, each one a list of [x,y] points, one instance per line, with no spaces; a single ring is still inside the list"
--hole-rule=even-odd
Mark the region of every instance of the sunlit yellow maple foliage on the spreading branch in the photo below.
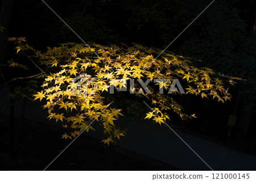
[[[109,145],[120,136],[125,136],[126,129],[116,125],[118,116],[123,116],[122,110],[108,107],[109,103],[105,100],[108,96],[105,93],[109,91],[110,85],[119,89],[125,87],[134,96],[150,102],[152,110],[146,113],[144,119],[162,124],[170,120],[170,112],[177,113],[181,119],[196,117],[195,113],[184,113],[182,106],[169,94],[160,94],[159,89],[173,90],[171,82],[175,79],[186,83],[186,94],[199,95],[201,98],[212,96],[222,103],[231,98],[225,88],[228,86],[226,84],[233,85],[240,79],[216,74],[209,68],[193,66],[193,62],[201,60],[178,56],[167,50],[162,53],[160,49],[138,44],[133,47],[106,47],[92,43],[88,47],[85,44],[65,43],[59,47],[48,47],[47,52],[41,52],[28,45],[24,38],[12,37],[9,40],[16,45],[16,53],[32,54],[30,57],[36,58],[40,66],[44,67],[43,73],[37,77],[43,78],[40,83],[42,90],[33,93],[34,100],[46,100],[43,108],[48,110],[48,118],[61,121],[63,127],[73,130],[63,134],[66,139],[75,138],[84,129],[86,132],[94,130],[91,124],[94,120],[108,135],[102,140],[104,144]],[[154,56],[160,53],[161,56],[155,59]],[[11,61],[10,66],[20,65]],[[74,79],[78,76],[80,81],[75,82]],[[138,79],[134,87],[126,87],[126,81],[130,79]],[[158,87],[147,86],[152,94],[141,91],[140,81],[144,82],[146,79],[157,79]],[[163,82],[163,79],[168,81]],[[182,95],[177,90],[174,94]]]

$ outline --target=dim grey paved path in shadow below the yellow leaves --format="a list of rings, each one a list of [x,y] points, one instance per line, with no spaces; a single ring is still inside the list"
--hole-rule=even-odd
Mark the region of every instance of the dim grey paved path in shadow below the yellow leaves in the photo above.
[[[127,122],[126,120],[125,122]],[[145,120],[146,121],[146,120]],[[183,170],[210,170],[166,125],[129,120],[129,133],[122,144]],[[215,142],[174,130],[213,170],[256,170],[256,157]]]

